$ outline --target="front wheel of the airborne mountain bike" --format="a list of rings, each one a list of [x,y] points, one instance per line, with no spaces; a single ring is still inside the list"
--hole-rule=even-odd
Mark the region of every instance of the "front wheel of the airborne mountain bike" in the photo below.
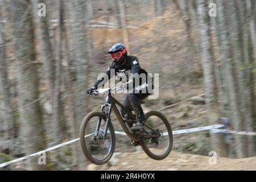
[[[98,132],[97,123],[101,120]],[[103,138],[106,115],[103,112],[93,111],[88,113],[80,126],[80,144],[84,155],[90,162],[98,165],[107,163],[115,148],[115,133],[112,123],[108,123],[106,138]]]

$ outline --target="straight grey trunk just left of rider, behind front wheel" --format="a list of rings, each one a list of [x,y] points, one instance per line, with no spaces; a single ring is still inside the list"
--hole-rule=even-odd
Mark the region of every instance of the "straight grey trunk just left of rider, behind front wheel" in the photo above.
[[[75,69],[76,69],[76,81],[75,81],[75,102],[76,102],[76,135],[79,137],[79,126],[84,118],[87,106],[86,100],[86,85],[87,85],[87,61],[85,59],[85,15],[84,15],[84,1],[75,0],[72,1],[73,10],[75,11],[75,19],[73,22],[73,35],[75,39]],[[79,163],[79,169],[86,169],[85,156],[82,154],[81,147],[77,143],[79,148],[77,161]]]

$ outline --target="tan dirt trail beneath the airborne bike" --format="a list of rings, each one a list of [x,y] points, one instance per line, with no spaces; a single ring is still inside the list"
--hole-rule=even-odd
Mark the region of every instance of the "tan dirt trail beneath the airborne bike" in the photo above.
[[[209,164],[210,156],[184,154],[172,151],[164,160],[152,160],[143,151],[122,153],[114,156],[113,162],[97,166],[90,164],[89,170],[254,170],[256,156],[245,159],[217,158],[216,164]]]

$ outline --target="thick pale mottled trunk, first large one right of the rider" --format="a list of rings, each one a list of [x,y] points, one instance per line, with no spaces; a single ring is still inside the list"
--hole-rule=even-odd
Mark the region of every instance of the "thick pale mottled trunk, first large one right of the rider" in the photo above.
[[[207,110],[209,124],[218,123],[220,115],[217,105],[217,82],[214,71],[214,58],[212,41],[210,38],[210,19],[208,16],[207,0],[199,0],[197,14],[199,15],[199,27],[201,30],[201,60],[204,72],[205,93],[207,95]],[[220,156],[226,156],[224,141],[220,134],[210,135],[212,149]]]

